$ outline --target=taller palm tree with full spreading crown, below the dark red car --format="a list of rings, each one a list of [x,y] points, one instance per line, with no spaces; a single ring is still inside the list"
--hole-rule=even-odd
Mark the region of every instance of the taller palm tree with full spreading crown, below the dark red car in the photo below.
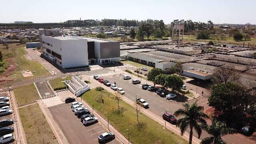
[[[192,144],[193,128],[196,130],[198,138],[200,138],[202,129],[207,128],[207,122],[204,119],[209,117],[204,114],[204,107],[198,106],[198,102],[195,102],[191,106],[183,103],[183,106],[184,109],[178,109],[176,112],[174,112],[174,116],[184,116],[177,120],[176,126],[180,128],[181,135],[184,134],[185,130],[189,126],[189,144]]]

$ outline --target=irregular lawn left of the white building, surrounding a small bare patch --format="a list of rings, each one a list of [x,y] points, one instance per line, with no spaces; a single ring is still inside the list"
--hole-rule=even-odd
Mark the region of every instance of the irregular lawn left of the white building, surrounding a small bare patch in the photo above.
[[[26,54],[26,50],[24,47],[16,49],[16,56],[14,58],[14,62],[17,64],[18,68],[16,71],[10,76],[14,80],[26,80],[31,79],[38,76],[44,76],[50,74],[42,64],[36,61],[29,61],[24,57]],[[34,76],[24,77],[21,73],[22,70],[30,70]],[[35,72],[34,72],[35,71]]]

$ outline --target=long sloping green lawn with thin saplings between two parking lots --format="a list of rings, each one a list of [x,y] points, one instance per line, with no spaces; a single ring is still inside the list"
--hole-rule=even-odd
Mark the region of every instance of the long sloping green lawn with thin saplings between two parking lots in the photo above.
[[[104,92],[107,92],[104,90]],[[82,98],[92,106],[92,101],[95,100],[98,91],[95,89],[89,90],[82,95]],[[130,141],[133,144],[187,144],[188,142],[170,132],[163,129],[163,126],[152,120],[148,116],[139,113],[137,122],[136,112],[132,106],[124,101],[119,102],[121,110],[118,112],[116,100],[110,99],[106,93],[103,93],[102,98],[104,104],[94,101],[94,109],[100,112],[105,118],[109,116],[109,122],[126,138],[130,130]],[[107,113],[106,113],[107,112]]]

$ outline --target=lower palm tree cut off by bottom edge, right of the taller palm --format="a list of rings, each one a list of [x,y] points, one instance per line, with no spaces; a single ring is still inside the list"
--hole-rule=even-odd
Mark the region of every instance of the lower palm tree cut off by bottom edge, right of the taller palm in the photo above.
[[[235,134],[236,130],[233,128],[228,128],[226,124],[218,122],[215,118],[212,120],[212,125],[207,128],[208,134],[211,136],[204,138],[200,144],[226,144],[221,138],[227,134]]]

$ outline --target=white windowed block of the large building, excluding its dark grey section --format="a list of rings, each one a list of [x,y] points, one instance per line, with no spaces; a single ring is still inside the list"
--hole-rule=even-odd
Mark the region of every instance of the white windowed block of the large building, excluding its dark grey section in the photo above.
[[[42,51],[62,68],[88,66],[87,40],[84,38],[42,35]]]

